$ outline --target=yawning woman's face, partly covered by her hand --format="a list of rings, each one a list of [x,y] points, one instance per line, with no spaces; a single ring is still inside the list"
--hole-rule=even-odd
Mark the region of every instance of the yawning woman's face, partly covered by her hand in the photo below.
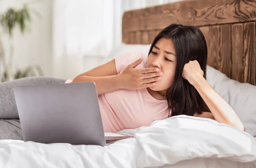
[[[160,81],[157,81],[150,89],[166,92],[173,84],[176,64],[177,59],[173,41],[168,38],[160,38],[148,55],[148,68],[157,67],[159,72],[163,72],[163,75]]]

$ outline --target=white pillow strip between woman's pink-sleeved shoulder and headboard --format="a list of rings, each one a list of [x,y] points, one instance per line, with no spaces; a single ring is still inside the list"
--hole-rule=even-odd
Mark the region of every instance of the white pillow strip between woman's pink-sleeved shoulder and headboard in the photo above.
[[[104,59],[104,63],[113,60],[117,55],[123,54],[129,51],[141,51],[148,55],[151,44],[125,44],[122,43],[120,46],[115,47],[108,53],[107,58]]]

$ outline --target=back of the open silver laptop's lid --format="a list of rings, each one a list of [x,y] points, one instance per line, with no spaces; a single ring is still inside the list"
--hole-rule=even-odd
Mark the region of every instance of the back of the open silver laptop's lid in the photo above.
[[[106,145],[93,82],[13,88],[24,141]]]

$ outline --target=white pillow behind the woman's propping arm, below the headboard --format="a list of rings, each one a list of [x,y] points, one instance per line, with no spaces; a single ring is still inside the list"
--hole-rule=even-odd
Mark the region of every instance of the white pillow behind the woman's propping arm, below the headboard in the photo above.
[[[230,79],[210,66],[207,81],[235,110],[246,132],[256,137],[256,86]]]

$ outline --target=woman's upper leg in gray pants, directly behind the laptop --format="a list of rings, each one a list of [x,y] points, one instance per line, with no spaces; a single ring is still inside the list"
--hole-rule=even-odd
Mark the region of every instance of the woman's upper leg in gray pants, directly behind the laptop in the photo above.
[[[27,77],[0,83],[0,119],[19,119],[12,90],[14,86],[62,84],[65,81],[66,79],[50,77]]]

